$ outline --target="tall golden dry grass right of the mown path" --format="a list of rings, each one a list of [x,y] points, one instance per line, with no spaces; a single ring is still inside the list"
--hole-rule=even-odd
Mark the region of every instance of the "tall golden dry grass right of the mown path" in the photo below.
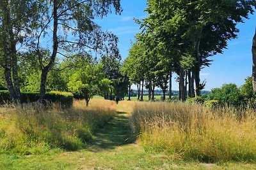
[[[256,160],[256,116],[252,110],[136,103],[131,125],[148,151],[202,162]]]

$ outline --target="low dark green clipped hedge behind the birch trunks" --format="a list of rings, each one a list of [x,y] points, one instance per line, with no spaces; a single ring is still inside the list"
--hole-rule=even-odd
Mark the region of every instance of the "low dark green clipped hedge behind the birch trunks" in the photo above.
[[[31,103],[38,101],[38,92],[21,92],[21,102]],[[45,99],[51,103],[60,103],[61,106],[71,107],[73,104],[73,94],[69,92],[52,91],[45,94]],[[0,104],[8,103],[11,97],[8,91],[0,91]]]

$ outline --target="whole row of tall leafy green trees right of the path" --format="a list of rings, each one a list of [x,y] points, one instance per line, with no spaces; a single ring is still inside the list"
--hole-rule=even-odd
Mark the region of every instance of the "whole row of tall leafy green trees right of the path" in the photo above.
[[[237,38],[237,24],[256,6],[253,0],[148,0],[147,4],[148,17],[136,20],[142,31],[125,60],[125,73],[130,84],[137,84],[141,100],[143,87],[152,100],[155,87],[163,94],[169,88],[171,99],[172,74],[177,73],[182,101],[200,96],[205,86],[201,69],[210,66],[212,55],[227,48],[228,40]]]

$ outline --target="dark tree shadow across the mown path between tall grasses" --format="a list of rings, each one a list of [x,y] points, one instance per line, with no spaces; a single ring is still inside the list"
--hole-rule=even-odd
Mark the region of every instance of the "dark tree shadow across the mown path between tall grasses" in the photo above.
[[[134,140],[127,113],[119,111],[108,124],[95,132],[88,149],[92,152],[100,152],[133,143]]]

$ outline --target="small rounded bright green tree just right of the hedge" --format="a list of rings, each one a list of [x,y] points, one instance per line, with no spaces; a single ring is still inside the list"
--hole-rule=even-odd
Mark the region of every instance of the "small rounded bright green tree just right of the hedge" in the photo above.
[[[68,89],[83,96],[86,101],[86,107],[88,107],[90,99],[102,92],[102,90],[106,90],[106,86],[111,84],[111,81],[104,78],[104,76],[102,65],[88,63],[70,77]]]

